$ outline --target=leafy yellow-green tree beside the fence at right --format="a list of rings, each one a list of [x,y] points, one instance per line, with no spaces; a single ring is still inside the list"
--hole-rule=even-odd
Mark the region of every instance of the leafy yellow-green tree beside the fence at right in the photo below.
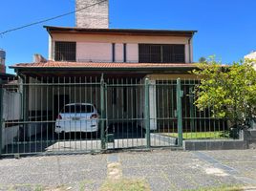
[[[233,127],[244,126],[246,118],[256,116],[256,71],[252,63],[245,60],[224,66],[211,57],[198,64],[192,72],[201,79],[195,90],[197,108],[211,108],[213,117],[226,117]]]

